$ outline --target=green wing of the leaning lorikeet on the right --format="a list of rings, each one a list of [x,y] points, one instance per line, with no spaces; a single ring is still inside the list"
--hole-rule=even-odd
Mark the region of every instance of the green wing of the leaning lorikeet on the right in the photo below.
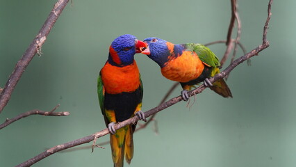
[[[202,44],[188,43],[185,45],[187,50],[195,51],[200,60],[211,67],[219,67],[219,58],[215,56],[213,51]]]

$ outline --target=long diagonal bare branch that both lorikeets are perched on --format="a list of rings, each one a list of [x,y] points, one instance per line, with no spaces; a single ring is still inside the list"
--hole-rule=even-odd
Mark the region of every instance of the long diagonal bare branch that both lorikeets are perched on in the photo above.
[[[212,83],[214,81],[217,81],[217,79],[221,79],[225,76],[227,76],[227,74],[229,74],[229,72],[231,72],[231,70],[233,70],[237,65],[239,65],[240,63],[246,61],[249,58],[252,58],[252,56],[256,56],[259,54],[259,52],[263,51],[264,49],[266,49],[267,47],[269,47],[269,42],[266,38],[266,35],[268,33],[268,25],[269,25],[269,21],[270,21],[270,17],[271,17],[271,5],[272,5],[272,0],[269,1],[268,3],[268,18],[266,19],[265,22],[265,26],[263,29],[263,42],[261,45],[258,45],[258,47],[256,47],[255,49],[253,49],[252,51],[249,51],[247,54],[245,54],[244,56],[241,56],[240,58],[236,59],[236,61],[233,61],[225,70],[223,70],[222,72],[220,72],[219,74],[216,74],[214,77],[211,77],[211,79],[209,79]],[[190,91],[189,95],[196,95],[198,93],[202,93],[202,91],[206,88],[206,86],[204,86],[204,84],[202,84],[201,86],[199,86],[198,88],[196,88],[195,90]],[[171,100],[168,100],[167,102],[162,103],[159,106],[156,106],[154,109],[150,109],[149,111],[145,112],[145,117],[148,118],[152,115],[154,115],[155,113],[158,113],[159,111],[162,111],[163,109],[166,109],[169,106],[172,106],[174,104],[176,104],[177,102],[182,101],[181,96],[178,97],[174,97]],[[128,120],[124,120],[123,122],[119,122],[115,125],[115,129],[120,129],[121,127],[124,127],[126,125],[135,123],[139,120],[139,118],[137,116],[133,117],[133,118],[129,118]],[[40,161],[41,159],[44,159],[45,157],[49,157],[49,155],[54,154],[56,152],[60,152],[61,150],[65,150],[67,148],[72,148],[76,145],[81,145],[83,143],[89,143],[90,141],[100,138],[101,136],[105,136],[106,134],[109,134],[108,129],[103,129],[100,132],[97,132],[95,134],[91,134],[90,136],[85,136],[83,138],[79,138],[77,140],[74,141],[70,141],[67,143],[63,143],[61,145],[56,145],[53,148],[50,148],[40,154],[38,154],[37,156],[28,159],[28,161],[24,161],[22,164],[19,164],[17,166],[31,166],[33,164],[35,164],[36,162]]]

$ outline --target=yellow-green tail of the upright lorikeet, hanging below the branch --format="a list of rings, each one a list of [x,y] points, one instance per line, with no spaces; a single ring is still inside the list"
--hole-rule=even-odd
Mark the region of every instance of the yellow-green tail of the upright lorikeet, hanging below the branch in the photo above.
[[[127,163],[133,158],[133,130],[131,125],[117,129],[116,133],[110,135],[110,145],[114,167],[124,166],[124,155]]]

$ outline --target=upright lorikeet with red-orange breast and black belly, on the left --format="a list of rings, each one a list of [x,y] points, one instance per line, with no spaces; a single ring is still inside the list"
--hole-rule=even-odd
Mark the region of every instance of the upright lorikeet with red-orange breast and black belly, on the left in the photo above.
[[[137,63],[133,59],[146,44],[133,35],[121,35],[109,48],[108,61],[101,69],[97,91],[101,113],[110,132],[114,167],[122,167],[124,156],[128,163],[133,158],[135,125],[126,125],[115,131],[116,122],[133,116],[145,120],[141,111],[143,86]]]

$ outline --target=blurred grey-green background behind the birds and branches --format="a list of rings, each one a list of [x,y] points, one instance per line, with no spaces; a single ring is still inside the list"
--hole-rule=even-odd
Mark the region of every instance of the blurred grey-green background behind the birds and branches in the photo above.
[[[0,87],[37,35],[56,0],[0,1]],[[296,77],[293,66],[296,1],[274,1],[270,47],[231,72],[233,98],[206,89],[191,109],[179,102],[134,134],[133,166],[295,166]],[[238,1],[242,45],[261,44],[268,0]],[[97,76],[110,43],[131,33],[174,43],[225,40],[230,1],[73,1],[69,3],[0,114],[0,123],[33,109],[69,111],[67,117],[30,116],[0,130],[0,166],[15,166],[54,145],[105,128],[97,100]],[[236,32],[233,32],[233,37]],[[211,45],[222,58],[224,44]],[[242,56],[238,49],[237,56]],[[145,95],[143,111],[157,106],[174,84],[147,56],[135,56]],[[227,67],[229,61],[224,65]],[[180,95],[178,86],[170,97]],[[99,138],[107,141],[108,136]],[[91,145],[85,144],[84,146]],[[51,155],[34,166],[113,166],[110,146]],[[125,163],[126,164],[126,163]],[[126,166],[128,166],[126,164]]]

